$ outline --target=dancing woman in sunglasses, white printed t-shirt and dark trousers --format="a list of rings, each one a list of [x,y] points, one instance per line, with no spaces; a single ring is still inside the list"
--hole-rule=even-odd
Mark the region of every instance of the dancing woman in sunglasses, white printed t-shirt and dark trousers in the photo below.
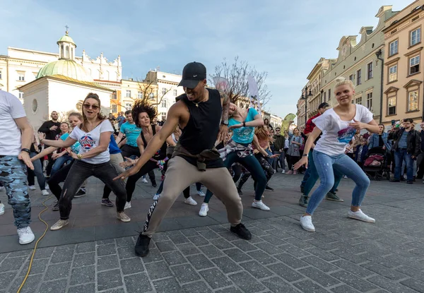
[[[114,181],[117,170],[110,163],[109,143],[113,133],[112,124],[100,113],[100,99],[95,93],[89,93],[83,102],[83,124],[76,126],[66,140],[41,140],[56,148],[68,148],[77,141],[81,144],[79,154],[71,152],[76,161],[69,170],[59,199],[60,220],[50,229],[58,230],[69,222],[71,201],[79,187],[88,177],[94,176],[117,195],[117,218],[122,222],[131,219],[125,215],[126,191],[124,181]]]

